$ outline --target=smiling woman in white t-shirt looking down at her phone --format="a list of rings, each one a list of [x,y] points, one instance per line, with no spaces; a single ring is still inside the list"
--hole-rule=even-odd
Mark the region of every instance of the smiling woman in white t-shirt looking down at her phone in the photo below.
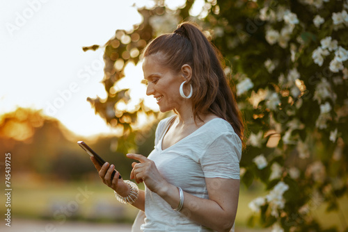
[[[92,158],[102,181],[119,201],[145,211],[141,231],[231,231],[244,126],[219,51],[196,24],[184,22],[150,42],[143,56],[146,94],[161,112],[176,115],[159,122],[148,158],[127,154],[139,161],[130,178],[145,183],[145,191],[118,172],[111,180],[114,165],[100,167]]]

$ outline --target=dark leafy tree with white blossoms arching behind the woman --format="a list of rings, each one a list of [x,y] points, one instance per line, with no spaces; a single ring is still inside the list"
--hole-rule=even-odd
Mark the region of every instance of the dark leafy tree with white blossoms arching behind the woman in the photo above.
[[[251,201],[249,223],[260,215],[260,224],[273,231],[324,231],[310,210],[325,202],[328,211],[340,212],[338,198],[347,195],[348,1],[209,0],[191,17],[196,2],[176,10],[165,1],[139,8],[143,22],[133,31],[116,31],[104,47],[108,97],[88,101],[126,132],[139,112],[155,115],[142,101],[134,112],[118,110],[127,90],[112,87],[155,35],[182,20],[196,21],[226,58],[230,82],[237,83],[248,129],[242,182],[260,179],[269,191]],[[347,231],[347,224],[341,229]]]

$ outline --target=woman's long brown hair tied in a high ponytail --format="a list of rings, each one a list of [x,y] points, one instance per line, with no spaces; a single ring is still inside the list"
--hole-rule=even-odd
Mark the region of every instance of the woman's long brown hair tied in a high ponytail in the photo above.
[[[193,22],[183,22],[170,34],[160,35],[145,47],[143,56],[161,52],[163,65],[173,72],[180,72],[182,65],[192,68],[189,81],[193,87],[193,116],[214,113],[231,124],[243,141],[244,124],[235,96],[223,72],[221,53],[205,38],[201,29]],[[201,119],[200,119],[201,120]]]

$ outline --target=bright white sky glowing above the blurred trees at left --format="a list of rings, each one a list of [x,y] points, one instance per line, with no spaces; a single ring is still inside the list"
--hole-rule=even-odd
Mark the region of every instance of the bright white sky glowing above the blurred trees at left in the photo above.
[[[103,49],[84,52],[82,47],[105,44],[116,29],[139,24],[142,17],[133,3],[0,0],[0,114],[17,107],[42,109],[77,135],[111,133],[86,101],[106,97],[100,83]],[[131,87],[134,98],[144,97],[154,106],[141,84],[141,64],[130,65],[126,75],[132,83],[127,78],[121,87]]]

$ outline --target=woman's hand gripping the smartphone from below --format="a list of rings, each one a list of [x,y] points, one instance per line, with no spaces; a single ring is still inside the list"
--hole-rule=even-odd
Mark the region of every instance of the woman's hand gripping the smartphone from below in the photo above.
[[[101,167],[93,156],[90,156],[90,160],[92,160],[95,168],[99,172],[100,179],[102,179],[104,184],[115,190],[122,197],[125,197],[129,194],[129,185],[127,185],[127,183],[125,183],[122,178],[118,179],[118,176],[120,176],[119,172],[116,171],[115,176],[113,176],[113,179],[111,180],[111,174],[115,169],[114,165],[109,165],[109,163],[106,162]]]

